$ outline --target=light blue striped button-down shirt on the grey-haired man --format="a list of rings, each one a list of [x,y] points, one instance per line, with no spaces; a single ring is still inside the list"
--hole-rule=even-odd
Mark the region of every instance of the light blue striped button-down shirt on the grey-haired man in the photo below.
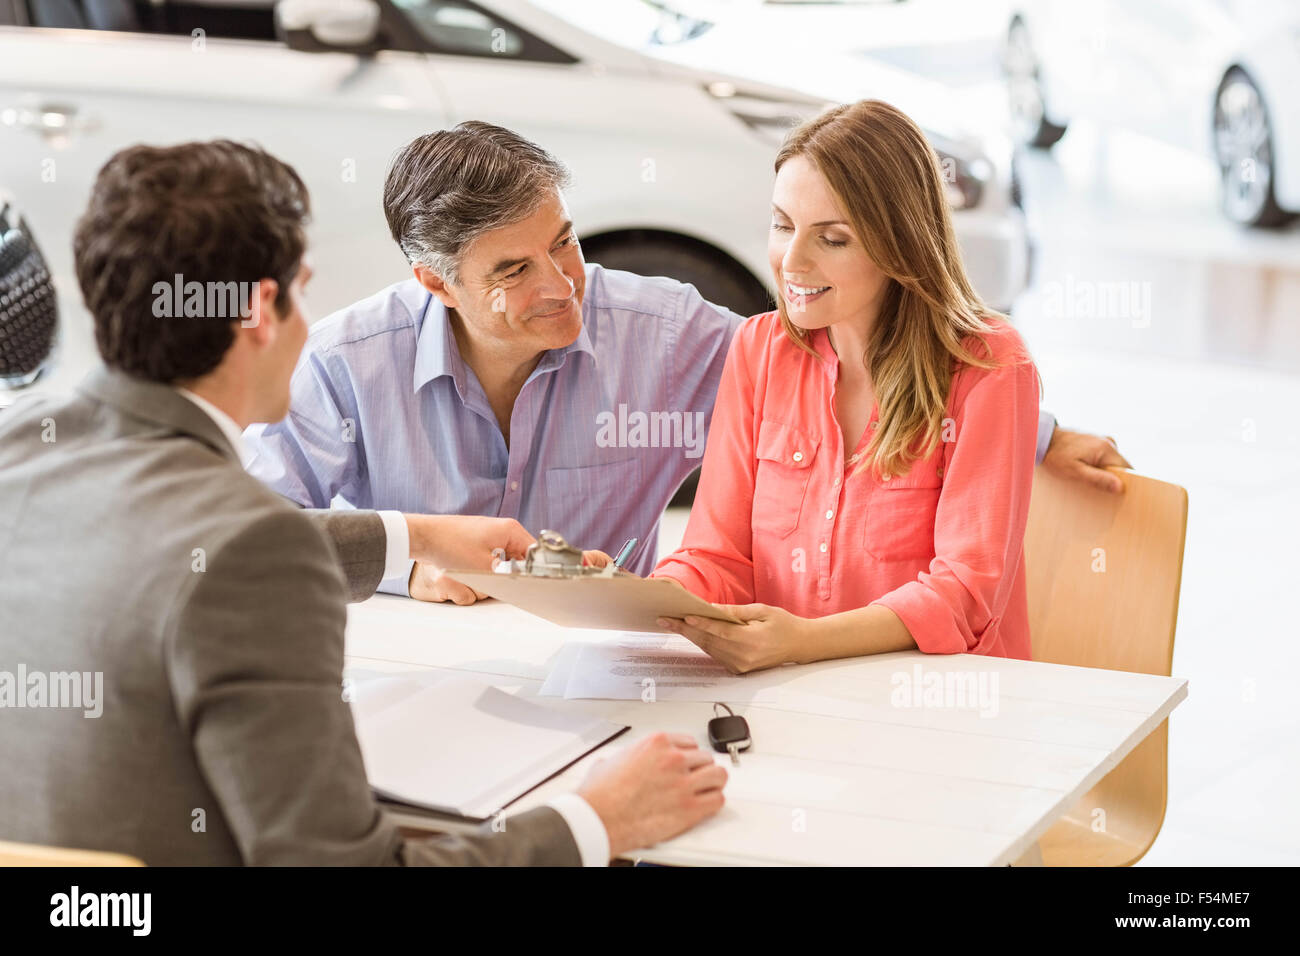
[[[741,321],[694,286],[588,264],[582,332],[542,354],[507,449],[446,307],[411,278],[312,326],[290,412],[248,429],[247,467],[309,507],[500,515],[610,554],[636,537],[624,564],[645,575]]]

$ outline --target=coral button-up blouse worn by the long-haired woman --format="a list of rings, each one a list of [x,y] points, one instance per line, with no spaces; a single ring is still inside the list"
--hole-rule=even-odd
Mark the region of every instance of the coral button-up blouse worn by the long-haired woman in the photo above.
[[[962,367],[944,441],[906,475],[854,473],[835,418],[838,358],[824,329],[798,349],[776,312],[736,332],[681,548],[654,571],[714,604],[805,618],[880,604],[932,654],[1030,657],[1024,524],[1039,375],[994,320],[997,368]],[[976,354],[983,354],[976,350]]]

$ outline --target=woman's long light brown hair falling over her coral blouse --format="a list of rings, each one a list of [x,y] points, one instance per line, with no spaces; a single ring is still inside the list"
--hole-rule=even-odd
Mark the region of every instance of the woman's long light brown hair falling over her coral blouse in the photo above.
[[[866,254],[888,277],[863,356],[880,423],[858,471],[904,475],[940,442],[957,367],[996,364],[984,336],[993,330],[985,319],[1000,313],[966,278],[939,156],[905,113],[880,100],[835,107],[790,131],[776,155],[777,172],[793,156],[826,177]],[[784,297],[776,298],[786,334],[816,355]],[[971,336],[985,356],[967,347]]]

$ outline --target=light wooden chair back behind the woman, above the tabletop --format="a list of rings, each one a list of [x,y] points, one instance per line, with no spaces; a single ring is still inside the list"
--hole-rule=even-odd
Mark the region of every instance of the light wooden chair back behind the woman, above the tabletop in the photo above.
[[[1034,476],[1024,562],[1035,661],[1169,675],[1187,490],[1113,470],[1112,494]]]

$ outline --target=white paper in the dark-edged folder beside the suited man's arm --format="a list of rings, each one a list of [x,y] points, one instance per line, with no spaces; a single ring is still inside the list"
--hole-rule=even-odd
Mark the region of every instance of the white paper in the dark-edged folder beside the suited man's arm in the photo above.
[[[380,796],[486,819],[627,730],[468,676],[360,680],[352,718]]]

